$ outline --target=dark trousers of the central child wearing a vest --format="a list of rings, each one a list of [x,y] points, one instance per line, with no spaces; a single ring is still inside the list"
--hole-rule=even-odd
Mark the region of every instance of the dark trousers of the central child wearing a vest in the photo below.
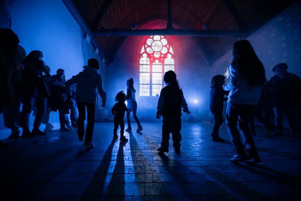
[[[173,146],[175,148],[180,148],[181,146],[181,127],[182,121],[181,116],[165,116],[163,117],[162,125],[162,142],[161,147],[163,149],[168,149],[169,147],[169,134],[172,133]]]

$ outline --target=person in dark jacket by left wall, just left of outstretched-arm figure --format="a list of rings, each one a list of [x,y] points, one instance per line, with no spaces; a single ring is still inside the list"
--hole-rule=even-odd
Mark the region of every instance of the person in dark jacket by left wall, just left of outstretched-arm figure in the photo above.
[[[73,128],[67,114],[69,114],[69,105],[72,104],[72,102],[70,98],[68,99],[67,97],[65,83],[63,81],[64,74],[64,69],[59,68],[56,74],[51,76],[51,81],[49,82],[51,92],[50,106],[51,111],[56,112],[58,110],[61,124],[60,131],[71,131]]]

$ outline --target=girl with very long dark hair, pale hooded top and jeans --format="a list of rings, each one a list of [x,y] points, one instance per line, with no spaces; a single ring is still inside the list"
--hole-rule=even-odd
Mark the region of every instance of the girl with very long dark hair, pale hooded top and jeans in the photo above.
[[[226,125],[236,154],[231,162],[261,162],[249,128],[250,115],[256,107],[262,86],[266,83],[265,69],[253,47],[247,40],[234,43],[232,62],[229,66],[230,91],[226,112]],[[244,136],[246,150],[238,129]]]

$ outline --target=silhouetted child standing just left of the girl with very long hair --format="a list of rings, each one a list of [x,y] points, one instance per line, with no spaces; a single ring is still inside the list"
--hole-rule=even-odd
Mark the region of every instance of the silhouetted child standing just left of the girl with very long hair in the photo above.
[[[216,75],[213,76],[210,83],[210,103],[209,110],[214,115],[213,131],[211,133],[212,141],[214,142],[225,142],[224,139],[219,137],[219,127],[223,124],[223,110],[224,101],[228,98],[224,98],[224,95],[228,95],[229,91],[223,89],[225,84],[225,76]]]

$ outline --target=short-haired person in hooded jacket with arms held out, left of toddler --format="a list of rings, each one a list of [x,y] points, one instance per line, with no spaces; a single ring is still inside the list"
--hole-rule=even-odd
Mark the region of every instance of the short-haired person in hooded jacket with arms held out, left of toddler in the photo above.
[[[93,147],[92,135],[95,122],[95,104],[97,91],[102,98],[102,107],[106,105],[107,95],[103,89],[103,81],[100,74],[98,74],[99,64],[97,59],[91,58],[88,60],[88,66],[84,66],[85,70],[73,76],[65,84],[67,90],[70,91],[70,86],[77,84],[76,88],[76,105],[78,108],[78,128],[77,134],[79,141],[83,140],[85,134],[84,122],[87,108],[87,128],[85,134],[84,146]]]

